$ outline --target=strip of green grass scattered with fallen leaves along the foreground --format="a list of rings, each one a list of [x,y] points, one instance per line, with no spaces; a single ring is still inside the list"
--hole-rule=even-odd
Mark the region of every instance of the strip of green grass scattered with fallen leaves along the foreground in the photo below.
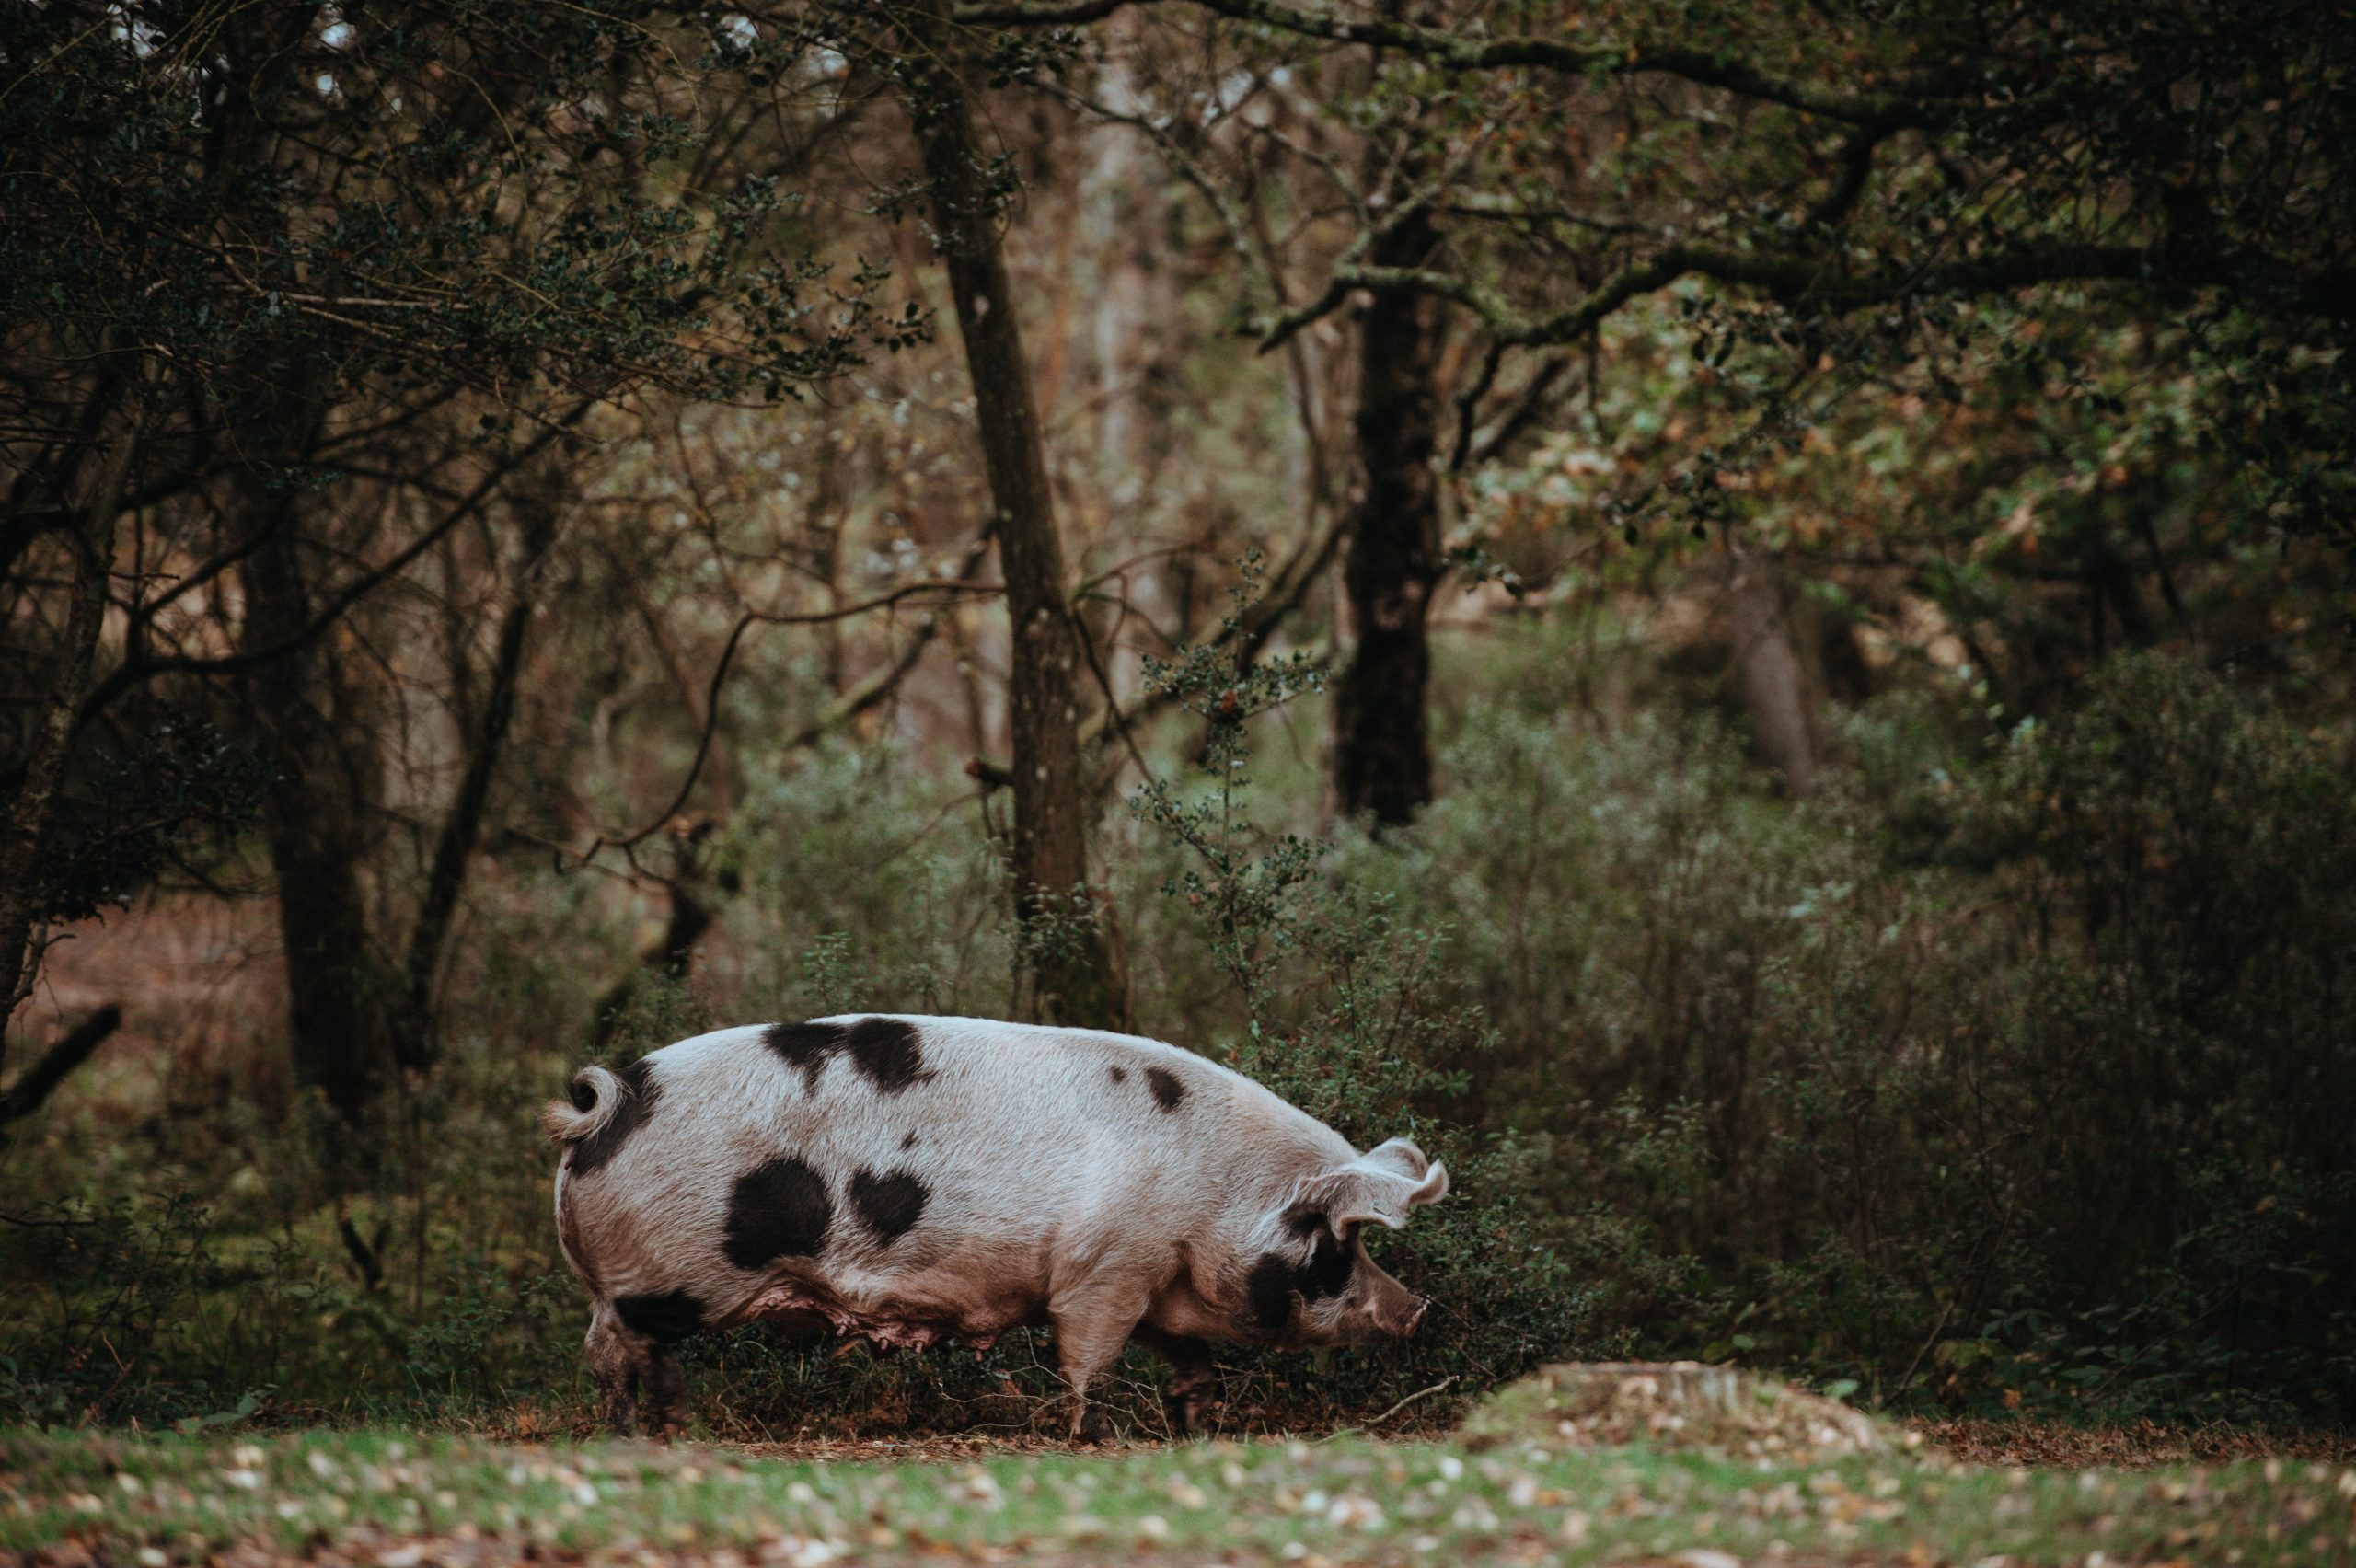
[[[469,1561],[737,1552],[785,1566],[940,1552],[1308,1568],[2332,1563],[2356,1556],[2356,1471],[2278,1460],[2031,1471],[1937,1453],[1776,1464],[1534,1443],[1475,1455],[1366,1439],[825,1464],[700,1443],[509,1446],[391,1429],[0,1431],[0,1561],[71,1547],[141,1568],[229,1547],[382,1568],[459,1547]]]

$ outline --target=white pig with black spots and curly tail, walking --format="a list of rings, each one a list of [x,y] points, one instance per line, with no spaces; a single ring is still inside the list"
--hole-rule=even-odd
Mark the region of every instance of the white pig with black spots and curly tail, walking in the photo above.
[[[1072,1436],[1131,1340],[1173,1368],[1178,1431],[1211,1340],[1404,1340],[1428,1309],[1366,1257],[1449,1191],[1395,1137],[1359,1154],[1176,1045],[968,1017],[841,1015],[584,1067],[542,1111],[556,1236],[594,1300],[605,1420],[676,1431],[671,1347],[770,1318],[888,1349],[982,1351],[1051,1326]]]

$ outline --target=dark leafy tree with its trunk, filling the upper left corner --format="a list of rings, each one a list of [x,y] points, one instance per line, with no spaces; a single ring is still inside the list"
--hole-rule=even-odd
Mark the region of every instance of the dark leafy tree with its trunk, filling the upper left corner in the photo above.
[[[787,396],[907,330],[872,311],[881,275],[813,297],[825,268],[787,259],[785,195],[693,158],[679,26],[646,5],[71,2],[12,24],[0,565],[12,619],[47,622],[57,650],[16,695],[14,996],[71,904],[38,864],[87,737],[137,753],[229,678],[269,758],[302,1076],[358,1116],[396,1041],[429,1059],[419,996],[528,612],[492,650],[408,977],[360,895],[379,770],[332,633],[466,525],[518,530],[528,598],[547,523],[509,485],[594,410]],[[108,612],[125,640],[101,673]]]

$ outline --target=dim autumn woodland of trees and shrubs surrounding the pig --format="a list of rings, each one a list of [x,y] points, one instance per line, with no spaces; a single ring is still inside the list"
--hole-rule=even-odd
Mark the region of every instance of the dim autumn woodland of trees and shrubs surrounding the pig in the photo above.
[[[2340,0],[7,7],[0,1429],[587,1434],[540,1107],[905,1012],[1447,1161],[1227,1434],[2344,1431],[2351,148]],[[693,1429],[1055,1391],[846,1349]]]

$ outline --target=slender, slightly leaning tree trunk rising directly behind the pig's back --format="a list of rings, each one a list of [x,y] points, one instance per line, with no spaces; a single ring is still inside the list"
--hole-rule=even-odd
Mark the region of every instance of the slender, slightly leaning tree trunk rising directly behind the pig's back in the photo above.
[[[1013,624],[1008,727],[1013,737],[1013,881],[1041,1010],[1058,1024],[1117,1029],[1126,996],[1112,972],[1088,890],[1079,772],[1079,650],[1065,600],[1063,539],[1046,476],[1046,445],[1030,360],[1015,320],[999,210],[973,134],[971,82],[942,9],[909,92],[909,113],[933,188],[933,228],[973,379],[992,527]]]

